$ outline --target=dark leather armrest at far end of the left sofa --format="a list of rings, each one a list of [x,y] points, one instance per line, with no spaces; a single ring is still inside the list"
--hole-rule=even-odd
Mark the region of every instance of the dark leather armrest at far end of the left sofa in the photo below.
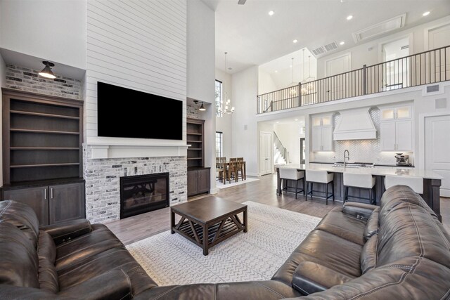
[[[48,226],[42,226],[39,229],[49,233],[55,244],[61,244],[92,231],[91,223],[89,223],[86,219],[65,221]]]

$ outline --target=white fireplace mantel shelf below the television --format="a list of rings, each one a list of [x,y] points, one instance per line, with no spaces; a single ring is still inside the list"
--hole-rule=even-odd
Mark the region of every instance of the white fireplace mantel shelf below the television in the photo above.
[[[88,137],[91,159],[186,156],[186,141]]]

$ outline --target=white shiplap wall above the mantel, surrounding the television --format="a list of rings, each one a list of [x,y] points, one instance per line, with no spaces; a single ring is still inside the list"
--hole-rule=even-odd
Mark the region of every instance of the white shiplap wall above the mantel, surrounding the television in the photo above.
[[[186,0],[88,0],[86,19],[88,143],[97,136],[97,81],[183,100],[186,124]]]

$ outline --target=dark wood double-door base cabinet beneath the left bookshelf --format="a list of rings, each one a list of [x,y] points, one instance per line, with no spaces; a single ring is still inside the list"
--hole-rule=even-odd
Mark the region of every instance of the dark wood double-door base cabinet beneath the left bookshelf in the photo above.
[[[7,187],[2,192],[2,200],[15,200],[32,207],[40,226],[85,217],[84,181],[30,188]]]

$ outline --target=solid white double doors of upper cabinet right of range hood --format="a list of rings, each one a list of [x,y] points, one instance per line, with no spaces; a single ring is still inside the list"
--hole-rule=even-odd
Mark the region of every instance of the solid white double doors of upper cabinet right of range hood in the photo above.
[[[412,139],[411,120],[380,122],[380,150],[412,151]]]

